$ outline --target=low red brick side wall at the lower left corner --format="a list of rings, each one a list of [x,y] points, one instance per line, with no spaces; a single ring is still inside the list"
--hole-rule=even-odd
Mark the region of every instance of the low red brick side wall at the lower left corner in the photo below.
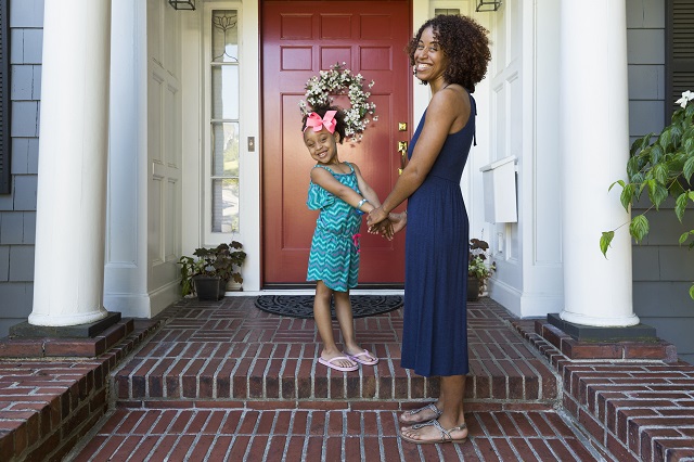
[[[60,348],[48,347],[42,338],[25,339],[26,356],[38,352],[40,359],[1,358],[0,460],[61,460],[107,412],[113,370],[157,326],[155,321],[125,320],[97,342],[55,341]],[[125,330],[127,336],[115,342]],[[108,346],[105,352],[79,357],[102,345]],[[48,357],[59,351],[62,358]],[[69,351],[76,356],[65,357]]]

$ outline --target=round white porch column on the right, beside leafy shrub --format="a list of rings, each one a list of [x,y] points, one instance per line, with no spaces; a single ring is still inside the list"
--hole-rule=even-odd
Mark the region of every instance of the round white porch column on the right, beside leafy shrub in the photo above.
[[[625,0],[561,2],[560,146],[563,161],[564,321],[639,323],[631,239],[620,228],[605,259],[602,231],[629,220],[619,187],[629,157]]]

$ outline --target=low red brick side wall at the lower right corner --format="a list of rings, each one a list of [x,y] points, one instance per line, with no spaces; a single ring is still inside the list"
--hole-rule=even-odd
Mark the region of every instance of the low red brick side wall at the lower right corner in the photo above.
[[[564,409],[619,461],[694,460],[694,365],[672,345],[580,343],[547,322],[515,324],[561,374]]]

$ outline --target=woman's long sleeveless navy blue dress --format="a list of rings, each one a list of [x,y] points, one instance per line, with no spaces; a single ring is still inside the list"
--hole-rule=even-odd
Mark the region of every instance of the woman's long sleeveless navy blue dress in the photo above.
[[[460,189],[475,134],[475,100],[462,130],[449,134],[432,170],[408,200],[401,365],[423,376],[462,375],[467,364],[470,223]],[[412,137],[408,156],[424,126]]]

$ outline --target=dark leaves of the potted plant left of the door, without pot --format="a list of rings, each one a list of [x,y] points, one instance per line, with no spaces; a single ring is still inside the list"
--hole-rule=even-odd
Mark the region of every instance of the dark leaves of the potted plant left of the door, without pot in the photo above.
[[[193,252],[196,258],[183,255],[178,264],[181,266],[181,294],[183,296],[195,293],[193,278],[207,275],[220,278],[227,282],[233,279],[236,283],[243,283],[241,266],[246,259],[243,245],[237,241],[231,244],[219,244],[217,247],[200,247]]]

